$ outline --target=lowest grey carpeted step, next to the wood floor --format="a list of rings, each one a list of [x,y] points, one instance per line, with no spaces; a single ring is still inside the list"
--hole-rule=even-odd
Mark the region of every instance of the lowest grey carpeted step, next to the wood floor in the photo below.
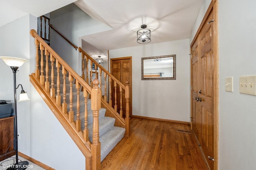
[[[113,127],[102,136],[100,136],[101,143],[101,158],[102,161],[109,152],[118,144],[118,142],[124,137],[125,128]]]

